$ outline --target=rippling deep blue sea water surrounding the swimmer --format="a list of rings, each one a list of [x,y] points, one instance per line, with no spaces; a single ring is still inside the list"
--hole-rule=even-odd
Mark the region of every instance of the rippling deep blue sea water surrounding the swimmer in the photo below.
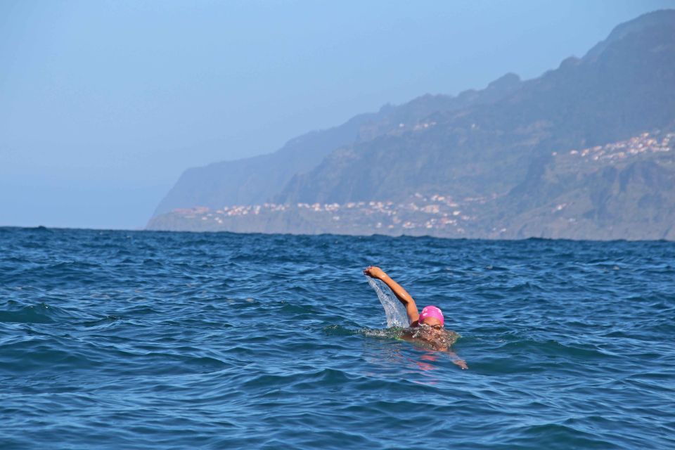
[[[0,229],[0,448],[672,449],[674,319],[675,243]]]

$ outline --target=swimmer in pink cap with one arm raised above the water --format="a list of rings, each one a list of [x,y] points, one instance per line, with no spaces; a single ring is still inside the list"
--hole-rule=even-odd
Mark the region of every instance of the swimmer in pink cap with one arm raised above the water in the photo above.
[[[406,314],[408,314],[408,322],[411,330],[404,333],[403,338],[410,341],[422,341],[431,345],[436,350],[448,352],[454,356],[453,362],[461,368],[468,368],[463,359],[457,358],[456,354],[450,352],[449,348],[452,342],[456,339],[456,333],[443,328],[445,319],[442,311],[435,306],[428,306],[422,309],[422,314],[417,309],[417,304],[413,297],[406,291],[403,286],[392,280],[390,276],[385,274],[385,271],[377,266],[369,266],[364,270],[364,274],[371,278],[383,281],[396,295],[399,302],[406,307]]]

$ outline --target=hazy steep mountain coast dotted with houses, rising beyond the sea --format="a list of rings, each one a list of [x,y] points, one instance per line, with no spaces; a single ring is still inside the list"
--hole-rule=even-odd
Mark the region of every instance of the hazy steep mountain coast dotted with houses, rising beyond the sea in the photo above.
[[[326,139],[297,147],[302,167],[275,169],[274,187],[240,202],[274,207],[221,210],[227,219],[215,217],[214,229],[675,238],[673,131],[675,11],[655,11],[536,79],[506,75],[481,91],[423,96],[312,134]],[[259,158],[285,151],[288,144]],[[250,169],[240,176],[261,173]],[[216,191],[203,186],[200,195],[219,203],[178,206],[235,204]],[[149,227],[210,226],[193,212],[155,217]]]

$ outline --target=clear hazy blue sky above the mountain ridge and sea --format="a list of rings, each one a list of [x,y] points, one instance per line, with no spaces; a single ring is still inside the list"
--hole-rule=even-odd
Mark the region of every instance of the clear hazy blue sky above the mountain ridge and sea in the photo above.
[[[532,78],[675,1],[0,0],[0,226],[138,229],[187,167]]]

